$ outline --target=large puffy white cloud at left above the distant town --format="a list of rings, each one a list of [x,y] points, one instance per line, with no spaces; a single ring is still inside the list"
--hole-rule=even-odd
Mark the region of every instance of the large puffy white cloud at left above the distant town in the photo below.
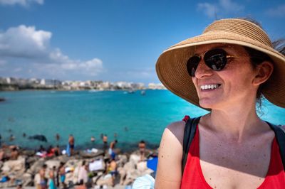
[[[103,72],[102,60],[73,60],[60,48],[50,46],[51,36],[49,31],[24,25],[0,32],[0,65],[19,74],[33,72],[50,78],[69,75],[72,79],[73,75],[86,77]]]

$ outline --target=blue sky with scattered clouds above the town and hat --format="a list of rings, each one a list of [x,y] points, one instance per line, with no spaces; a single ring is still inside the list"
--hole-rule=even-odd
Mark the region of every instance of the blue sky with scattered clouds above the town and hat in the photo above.
[[[0,0],[0,77],[160,82],[163,50],[237,17],[285,38],[284,0]]]

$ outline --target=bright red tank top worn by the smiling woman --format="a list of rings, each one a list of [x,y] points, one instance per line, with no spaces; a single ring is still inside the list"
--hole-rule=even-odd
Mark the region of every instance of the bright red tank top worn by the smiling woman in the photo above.
[[[187,156],[184,173],[181,182],[182,189],[189,188],[211,188],[204,179],[201,165],[199,162],[199,129],[197,126],[195,137],[191,143]],[[271,159],[269,170],[266,174],[264,182],[261,183],[259,189],[265,188],[285,188],[285,172],[279,153],[279,146],[274,138],[271,146]]]

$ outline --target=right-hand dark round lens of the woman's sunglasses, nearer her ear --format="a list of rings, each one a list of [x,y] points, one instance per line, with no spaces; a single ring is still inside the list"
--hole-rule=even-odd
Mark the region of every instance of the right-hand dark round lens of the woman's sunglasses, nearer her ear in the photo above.
[[[227,53],[222,49],[209,50],[204,55],[204,62],[212,70],[220,71],[227,64]]]

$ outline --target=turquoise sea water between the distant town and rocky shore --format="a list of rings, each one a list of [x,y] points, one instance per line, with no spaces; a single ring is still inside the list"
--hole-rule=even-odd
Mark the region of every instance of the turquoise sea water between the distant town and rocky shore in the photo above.
[[[140,140],[149,148],[160,143],[162,132],[172,121],[207,113],[167,90],[146,90],[129,94],[124,91],[19,91],[0,92],[6,99],[0,103],[1,142],[38,148],[41,144],[65,146],[68,134],[73,134],[77,148],[102,146],[100,134],[108,141],[117,134],[118,147],[130,150]],[[274,124],[285,124],[285,109],[265,101],[262,118]],[[44,134],[48,142],[23,137]],[[60,141],[56,141],[56,133]],[[13,134],[15,140],[10,142]],[[91,144],[90,137],[95,136]]]

